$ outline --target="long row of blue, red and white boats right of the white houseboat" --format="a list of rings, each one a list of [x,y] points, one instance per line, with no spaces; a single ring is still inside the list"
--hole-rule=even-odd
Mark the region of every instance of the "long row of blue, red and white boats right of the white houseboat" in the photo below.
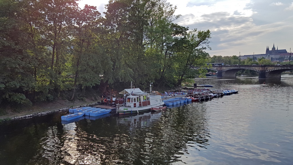
[[[208,91],[208,92],[195,92],[193,94],[186,95],[185,97],[175,97],[168,100],[163,100],[167,106],[185,104],[187,102],[204,101],[214,97],[222,97],[224,95],[231,95],[238,93],[236,90],[223,90],[223,91]]]

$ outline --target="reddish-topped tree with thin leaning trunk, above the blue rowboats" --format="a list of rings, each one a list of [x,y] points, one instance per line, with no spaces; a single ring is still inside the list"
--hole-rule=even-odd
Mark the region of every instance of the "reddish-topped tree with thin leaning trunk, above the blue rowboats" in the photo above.
[[[82,88],[92,87],[100,83],[102,67],[100,54],[103,52],[97,41],[101,31],[100,13],[94,6],[86,5],[84,9],[76,13],[76,26],[73,27],[73,48],[69,56],[69,65],[74,72],[74,85],[71,100],[74,99],[76,85]]]

